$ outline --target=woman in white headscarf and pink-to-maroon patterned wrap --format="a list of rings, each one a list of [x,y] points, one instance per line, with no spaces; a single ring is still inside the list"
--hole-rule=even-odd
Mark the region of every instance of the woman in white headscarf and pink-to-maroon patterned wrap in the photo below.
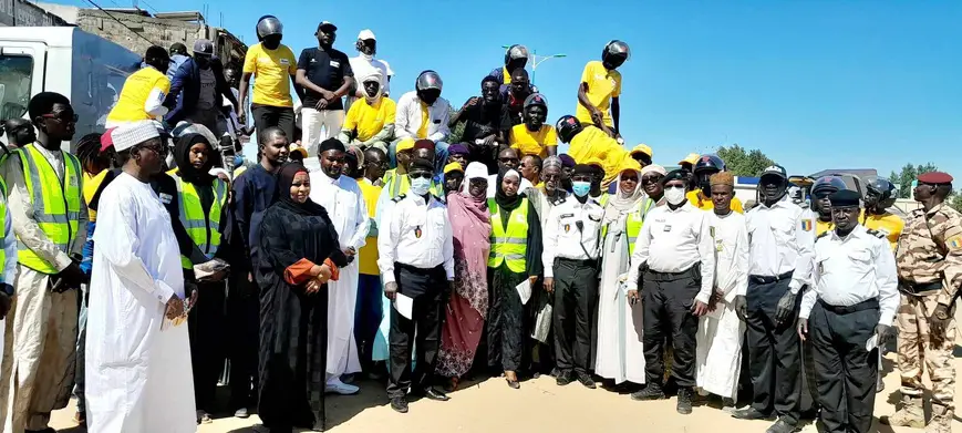
[[[459,192],[447,195],[454,238],[454,293],[441,330],[437,373],[457,388],[477,352],[488,310],[488,254],[492,223],[487,204],[487,166],[470,163]]]

